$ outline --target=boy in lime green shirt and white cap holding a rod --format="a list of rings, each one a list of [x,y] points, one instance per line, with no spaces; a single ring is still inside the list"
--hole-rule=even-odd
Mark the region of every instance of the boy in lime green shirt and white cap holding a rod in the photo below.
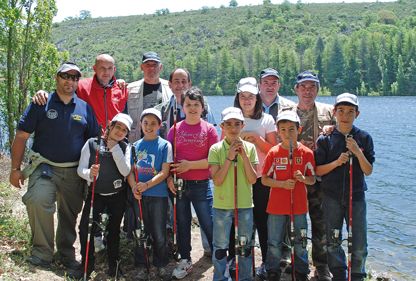
[[[239,108],[221,113],[224,139],[211,146],[208,155],[214,181],[213,280],[226,279],[230,229],[235,220],[239,250],[239,280],[251,280],[251,236],[253,231],[252,184],[256,182],[258,158],[252,143],[243,141],[240,132],[244,116]],[[237,193],[237,194],[236,194]],[[237,215],[237,216],[236,216]],[[238,219],[235,219],[238,218]]]

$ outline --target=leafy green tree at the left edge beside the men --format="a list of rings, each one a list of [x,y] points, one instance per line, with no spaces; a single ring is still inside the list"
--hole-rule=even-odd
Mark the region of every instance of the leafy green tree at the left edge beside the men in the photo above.
[[[52,18],[56,14],[54,0],[2,1],[0,24],[1,46],[6,55],[0,56],[0,104],[5,117],[9,144],[15,124],[28,102],[28,95],[38,89],[51,89],[53,73],[67,54],[59,54],[50,43]]]

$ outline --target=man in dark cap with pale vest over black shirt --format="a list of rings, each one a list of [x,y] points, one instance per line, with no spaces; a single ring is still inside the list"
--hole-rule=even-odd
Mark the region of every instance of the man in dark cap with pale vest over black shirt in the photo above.
[[[144,53],[140,68],[143,71],[143,79],[132,82],[127,86],[129,92],[127,108],[133,118],[133,126],[129,134],[131,142],[141,137],[140,115],[142,111],[157,104],[168,102],[172,96],[168,81],[160,78],[163,65],[157,53]]]

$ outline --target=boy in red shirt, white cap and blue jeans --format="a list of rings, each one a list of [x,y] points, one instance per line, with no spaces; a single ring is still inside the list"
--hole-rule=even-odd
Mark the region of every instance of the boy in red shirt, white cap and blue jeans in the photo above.
[[[312,150],[297,142],[301,128],[296,112],[289,110],[281,112],[276,123],[282,142],[271,148],[267,154],[261,178],[263,185],[271,187],[266,210],[269,214],[267,280],[280,280],[279,262],[284,243],[283,237],[292,213],[296,280],[308,280],[308,252],[306,247],[302,247],[302,237],[307,232],[306,185],[315,183],[315,160]]]

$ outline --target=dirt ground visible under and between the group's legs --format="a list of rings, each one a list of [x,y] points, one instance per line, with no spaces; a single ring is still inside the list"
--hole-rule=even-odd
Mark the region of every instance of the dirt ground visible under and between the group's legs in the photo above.
[[[0,155],[0,166],[2,169],[0,170],[0,183],[8,181],[8,173],[10,170],[10,160]],[[10,186],[10,188],[14,188]],[[18,219],[26,219],[26,209],[21,201],[21,196],[24,194],[25,188],[21,190],[16,189],[16,193],[14,193],[11,197],[7,198],[7,200],[12,200],[12,208],[10,212],[13,214],[14,217]],[[2,200],[0,203],[1,206],[5,205],[4,200],[5,198],[0,198]],[[10,204],[9,204],[10,205]],[[78,228],[77,228],[78,229]],[[29,228],[28,228],[29,230]],[[3,238],[1,238],[2,242],[0,243],[0,254],[6,257],[3,261],[0,262],[0,280],[7,281],[7,280],[30,280],[30,281],[61,281],[61,280],[71,280],[65,276],[65,272],[63,268],[59,265],[54,264],[50,270],[44,270],[40,267],[35,267],[32,265],[27,264],[24,262],[25,255],[28,254],[28,251],[24,251],[24,249],[19,248],[19,245],[14,245],[12,242],[7,243]],[[133,263],[133,255],[132,255],[132,248],[134,242],[129,241],[126,238],[121,239],[121,266],[124,272],[124,276],[119,278],[118,280],[137,280],[135,278],[136,274],[138,273],[137,268],[134,267]],[[76,241],[76,252],[77,252],[77,259],[80,260],[79,256],[79,242]],[[213,276],[213,266],[211,259],[209,257],[204,256],[204,250],[201,245],[200,234],[197,227],[192,229],[192,261],[193,261],[193,270],[192,272],[184,279],[184,281],[191,281],[191,280],[212,280]],[[255,260],[256,265],[259,266],[261,264],[260,258],[260,250],[258,248],[255,249]],[[169,272],[172,272],[176,263],[174,260],[171,260],[167,269]],[[106,265],[106,257],[104,252],[100,252],[97,255],[96,260],[96,271],[92,274],[90,280],[112,280],[108,279],[105,272],[107,270]],[[152,273],[150,274],[149,280],[157,281],[158,278],[155,276],[156,270],[153,268]],[[313,273],[311,273],[311,276]],[[290,275],[284,274],[282,280],[290,280]]]

